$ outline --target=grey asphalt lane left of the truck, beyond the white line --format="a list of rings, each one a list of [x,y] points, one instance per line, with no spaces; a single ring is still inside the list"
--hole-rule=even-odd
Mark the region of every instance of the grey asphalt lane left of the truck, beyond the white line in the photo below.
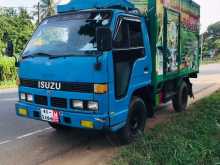
[[[36,129],[48,127],[43,122],[27,120],[15,115],[17,91],[0,91],[0,143],[7,139],[16,138]]]

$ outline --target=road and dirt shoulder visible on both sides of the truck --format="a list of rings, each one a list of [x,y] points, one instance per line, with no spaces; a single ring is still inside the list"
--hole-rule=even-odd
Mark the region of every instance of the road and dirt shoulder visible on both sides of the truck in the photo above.
[[[209,90],[219,81],[220,64],[202,66],[194,91]],[[105,164],[117,149],[114,137],[102,133],[56,132],[47,123],[17,117],[16,101],[16,90],[0,91],[0,165]]]

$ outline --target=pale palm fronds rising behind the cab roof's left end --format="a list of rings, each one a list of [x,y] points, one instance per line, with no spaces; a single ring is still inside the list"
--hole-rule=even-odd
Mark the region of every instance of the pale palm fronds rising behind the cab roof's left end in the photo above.
[[[52,16],[55,14],[55,3],[54,0],[40,0],[39,5],[34,6],[34,16],[39,15],[39,22],[45,17]]]

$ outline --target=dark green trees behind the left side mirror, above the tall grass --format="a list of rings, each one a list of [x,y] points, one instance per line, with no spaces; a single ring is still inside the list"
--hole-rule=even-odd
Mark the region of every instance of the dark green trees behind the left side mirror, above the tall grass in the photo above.
[[[20,54],[25,44],[33,33],[34,25],[31,17],[25,9],[16,11],[14,9],[0,10],[0,56],[4,55],[6,47],[2,37],[8,32],[10,39],[15,45],[15,54]]]

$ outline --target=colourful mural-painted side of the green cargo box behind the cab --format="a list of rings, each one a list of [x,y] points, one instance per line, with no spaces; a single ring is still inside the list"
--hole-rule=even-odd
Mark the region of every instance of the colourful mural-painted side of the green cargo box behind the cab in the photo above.
[[[131,0],[147,16],[156,82],[199,69],[200,7],[192,0]],[[151,19],[151,20],[150,20]],[[155,21],[155,22],[154,22]]]

